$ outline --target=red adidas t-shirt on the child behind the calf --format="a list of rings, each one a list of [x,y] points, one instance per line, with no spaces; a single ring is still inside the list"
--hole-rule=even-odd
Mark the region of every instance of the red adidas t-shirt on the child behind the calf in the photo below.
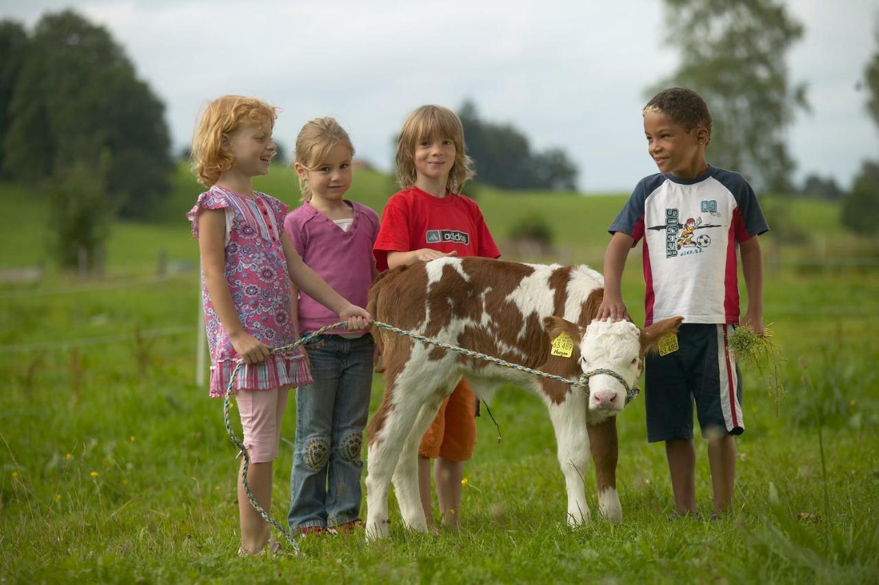
[[[410,187],[388,199],[381,214],[381,228],[373,248],[375,266],[386,271],[388,252],[422,248],[455,251],[460,257],[500,256],[476,201],[457,193],[433,197],[418,187]]]

